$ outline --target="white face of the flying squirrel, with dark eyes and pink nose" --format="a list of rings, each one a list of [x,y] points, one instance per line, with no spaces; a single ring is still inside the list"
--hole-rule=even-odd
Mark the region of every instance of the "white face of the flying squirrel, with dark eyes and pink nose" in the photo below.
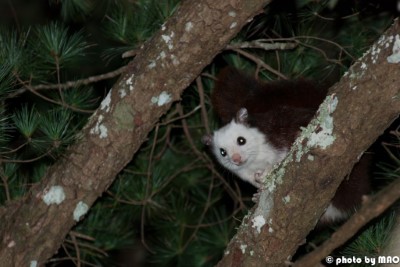
[[[256,128],[232,120],[212,137],[213,153],[217,160],[231,171],[245,168],[262,153],[264,135]]]

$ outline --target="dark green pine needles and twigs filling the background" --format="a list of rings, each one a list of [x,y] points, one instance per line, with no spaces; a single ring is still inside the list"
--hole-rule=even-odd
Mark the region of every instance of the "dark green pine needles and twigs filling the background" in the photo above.
[[[275,1],[266,7],[161,119],[48,266],[218,262],[252,206],[254,189],[218,167],[200,142],[206,129],[218,127],[209,100],[212,77],[229,64],[265,80],[308,77],[332,84],[394,15],[374,1],[336,2]],[[178,6],[177,0],[50,1],[45,23],[17,27],[9,21],[0,28],[1,204],[23,197],[62,158],[115,79],[62,85],[126,64],[121,55],[149,40]],[[260,40],[295,47],[241,47]],[[395,168],[382,163],[381,170],[397,178],[399,162]],[[391,218],[366,229],[338,255],[379,252]],[[131,265],[122,265],[130,253]]]

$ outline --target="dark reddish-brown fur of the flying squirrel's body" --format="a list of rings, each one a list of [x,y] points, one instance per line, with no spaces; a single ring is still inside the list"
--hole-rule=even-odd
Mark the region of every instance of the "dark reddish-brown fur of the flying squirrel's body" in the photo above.
[[[248,110],[248,124],[257,127],[277,148],[289,148],[311,121],[327,94],[307,80],[260,82],[231,67],[218,75],[212,94],[215,112],[223,123],[235,118],[240,108]],[[332,204],[352,212],[370,190],[370,156],[363,156],[339,186]]]

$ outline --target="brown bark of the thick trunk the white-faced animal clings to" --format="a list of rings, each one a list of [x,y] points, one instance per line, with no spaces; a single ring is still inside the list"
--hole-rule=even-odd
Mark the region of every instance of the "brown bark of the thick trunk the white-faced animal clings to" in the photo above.
[[[338,101],[332,113],[335,141],[325,149],[313,148],[303,155],[299,151],[307,150],[307,139],[292,148],[287,161],[267,177],[282,181],[275,181],[277,187],[271,196],[274,206],[265,205],[268,191],[264,191],[218,266],[285,266],[305,242],[359,156],[399,115],[400,63],[387,60],[394,54],[393,46],[400,45],[400,40],[396,41],[399,34],[396,20],[331,88],[330,98]],[[296,162],[299,155],[302,157]]]

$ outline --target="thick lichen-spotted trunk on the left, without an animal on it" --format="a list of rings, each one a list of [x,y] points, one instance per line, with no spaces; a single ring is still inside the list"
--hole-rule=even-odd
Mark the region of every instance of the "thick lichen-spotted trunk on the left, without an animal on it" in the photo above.
[[[24,199],[0,211],[1,266],[43,265],[132,159],[159,117],[268,2],[183,1],[131,62],[77,143]]]

